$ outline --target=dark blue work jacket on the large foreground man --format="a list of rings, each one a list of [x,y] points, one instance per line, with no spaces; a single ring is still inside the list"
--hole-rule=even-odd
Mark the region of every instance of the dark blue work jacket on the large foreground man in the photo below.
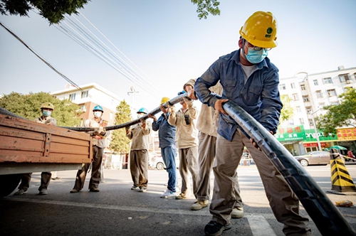
[[[222,97],[239,104],[268,131],[276,133],[283,104],[278,91],[278,68],[268,58],[256,64],[257,69],[244,83],[244,71],[240,63],[240,50],[221,56],[194,85],[199,100],[210,107],[218,98],[209,87],[220,80]],[[231,141],[238,124],[229,115],[220,114],[218,134]]]

